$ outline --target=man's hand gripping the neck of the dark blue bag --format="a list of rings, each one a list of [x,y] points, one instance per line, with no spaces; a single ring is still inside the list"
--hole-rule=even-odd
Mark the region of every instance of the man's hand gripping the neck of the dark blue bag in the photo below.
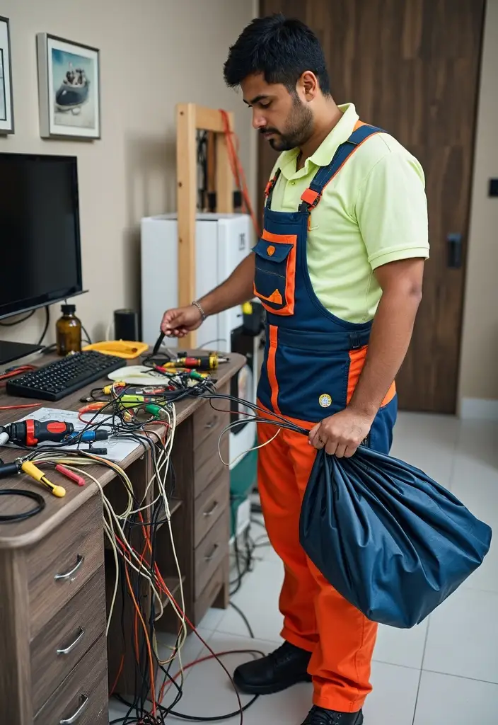
[[[311,428],[309,442],[330,455],[349,458],[368,436],[372,423],[371,415],[346,408]]]

